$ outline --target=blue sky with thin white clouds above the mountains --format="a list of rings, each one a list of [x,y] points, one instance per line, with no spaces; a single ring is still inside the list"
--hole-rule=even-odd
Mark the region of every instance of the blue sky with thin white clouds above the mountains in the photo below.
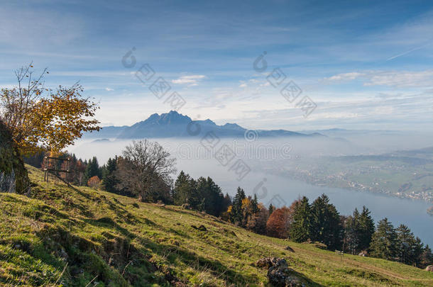
[[[121,60],[133,47],[135,67]],[[256,72],[264,57],[268,69]],[[50,86],[80,80],[103,125],[170,110],[136,77],[149,64],[180,113],[246,128],[433,130],[432,1],[6,1],[0,86],[33,61]],[[267,80],[280,68],[317,108]],[[152,79],[152,81],[153,81]],[[149,83],[151,84],[151,83]]]

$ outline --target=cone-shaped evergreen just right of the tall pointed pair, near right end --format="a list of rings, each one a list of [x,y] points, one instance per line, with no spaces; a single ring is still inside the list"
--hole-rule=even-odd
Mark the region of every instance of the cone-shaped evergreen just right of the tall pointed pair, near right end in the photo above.
[[[380,220],[371,239],[370,249],[373,257],[393,260],[398,254],[398,240],[395,228],[388,218]]]

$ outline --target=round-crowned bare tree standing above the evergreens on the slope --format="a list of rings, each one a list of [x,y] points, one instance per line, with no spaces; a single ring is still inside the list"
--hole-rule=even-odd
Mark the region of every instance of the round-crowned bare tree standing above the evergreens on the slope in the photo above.
[[[176,159],[158,144],[148,140],[133,141],[119,157],[116,176],[120,189],[138,195],[141,201],[158,199],[172,183]]]

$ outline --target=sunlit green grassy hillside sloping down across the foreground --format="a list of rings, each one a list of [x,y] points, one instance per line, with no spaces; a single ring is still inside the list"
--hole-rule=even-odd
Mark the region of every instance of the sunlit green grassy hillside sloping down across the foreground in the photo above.
[[[433,286],[433,273],[415,267],[350,255],[341,262],[177,206],[45,184],[29,170],[32,199],[0,193],[1,286],[260,286],[266,271],[253,262],[268,256],[285,257],[311,286]],[[191,227],[202,224],[207,232]]]

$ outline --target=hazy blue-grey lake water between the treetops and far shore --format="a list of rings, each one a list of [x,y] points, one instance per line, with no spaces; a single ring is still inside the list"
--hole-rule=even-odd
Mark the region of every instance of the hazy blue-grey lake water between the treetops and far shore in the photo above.
[[[233,195],[236,188],[241,186],[247,194],[256,193],[266,206],[271,202],[276,206],[290,205],[299,196],[307,196],[312,202],[325,193],[341,215],[351,215],[355,208],[362,210],[363,206],[366,206],[371,210],[376,223],[386,217],[394,227],[405,224],[410,227],[415,236],[420,237],[424,244],[433,247],[433,216],[427,214],[427,208],[432,206],[432,203],[385,196],[380,193],[312,186],[283,176],[253,171],[241,181],[237,181],[232,171],[228,171],[215,162],[212,164],[212,162],[200,162],[197,159],[194,160],[194,164],[178,162],[177,167],[179,170],[185,169],[194,178],[211,176],[221,186],[224,193],[228,192],[230,195]]]

